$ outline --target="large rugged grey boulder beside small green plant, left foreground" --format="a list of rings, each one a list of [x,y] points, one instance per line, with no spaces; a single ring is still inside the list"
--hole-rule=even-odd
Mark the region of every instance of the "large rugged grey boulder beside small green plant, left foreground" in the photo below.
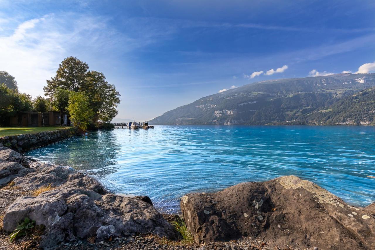
[[[84,188],[59,187],[37,197],[21,197],[9,206],[3,219],[4,230],[11,232],[28,217],[45,225],[40,247],[54,249],[64,241],[96,237],[153,233],[168,239],[179,234],[141,199],[114,194],[101,196]],[[95,198],[96,197],[96,198]]]

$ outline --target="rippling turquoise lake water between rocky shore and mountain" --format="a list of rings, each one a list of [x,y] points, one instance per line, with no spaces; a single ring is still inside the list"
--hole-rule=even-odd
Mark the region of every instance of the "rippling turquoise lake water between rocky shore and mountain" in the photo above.
[[[114,193],[149,196],[162,211],[194,191],[297,175],[352,205],[375,201],[375,128],[156,126],[99,131],[27,152],[72,166]]]

